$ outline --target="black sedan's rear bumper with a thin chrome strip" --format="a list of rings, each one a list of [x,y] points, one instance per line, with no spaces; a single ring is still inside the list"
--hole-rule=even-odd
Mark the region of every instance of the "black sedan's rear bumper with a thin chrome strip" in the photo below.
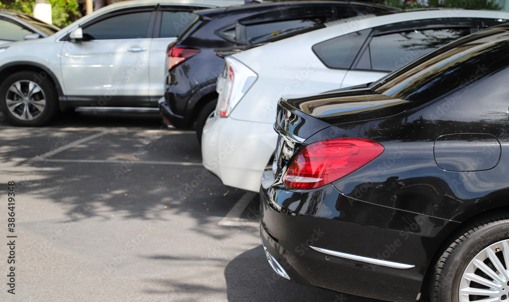
[[[332,186],[314,192],[262,187],[261,237],[267,252],[299,284],[415,301],[433,257],[427,251],[441,242],[432,237],[454,223],[433,221],[432,230],[434,218],[343,197]],[[327,206],[332,199],[340,210]],[[326,212],[333,213],[320,217]]]

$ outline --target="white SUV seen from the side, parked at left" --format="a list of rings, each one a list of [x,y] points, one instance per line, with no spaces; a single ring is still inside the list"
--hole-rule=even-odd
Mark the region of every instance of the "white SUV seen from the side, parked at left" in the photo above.
[[[242,3],[125,1],[52,36],[0,45],[0,109],[11,124],[42,126],[59,109],[157,107],[164,53],[194,21],[192,11]]]

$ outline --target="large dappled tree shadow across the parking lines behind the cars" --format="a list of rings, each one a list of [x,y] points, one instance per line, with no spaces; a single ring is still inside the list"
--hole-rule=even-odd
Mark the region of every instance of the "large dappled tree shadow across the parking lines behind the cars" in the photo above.
[[[0,173],[15,180],[25,196],[62,207],[66,217],[59,219],[61,223],[166,220],[165,213],[171,213],[195,219],[199,232],[223,237],[201,226],[223,217],[243,192],[224,187],[217,177],[206,173],[193,132],[164,130],[160,125],[158,114],[119,112],[73,113],[50,127],[2,123]],[[73,146],[50,156],[50,161],[33,161],[65,144],[110,129],[115,134]],[[87,162],[111,158],[114,161],[110,163]]]

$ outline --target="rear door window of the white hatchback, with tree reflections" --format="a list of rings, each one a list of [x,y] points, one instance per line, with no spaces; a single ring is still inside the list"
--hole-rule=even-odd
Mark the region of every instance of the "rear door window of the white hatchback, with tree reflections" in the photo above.
[[[373,37],[369,47],[371,69],[392,71],[432,50],[470,35],[470,28],[412,30]],[[361,56],[364,58],[364,54]],[[357,68],[365,69],[365,63]]]

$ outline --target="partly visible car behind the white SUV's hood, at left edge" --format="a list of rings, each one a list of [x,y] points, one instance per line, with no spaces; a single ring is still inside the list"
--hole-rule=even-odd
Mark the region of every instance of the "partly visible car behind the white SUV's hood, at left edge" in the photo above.
[[[58,26],[48,24],[30,15],[0,9],[0,44],[24,39],[45,38],[60,31]]]

